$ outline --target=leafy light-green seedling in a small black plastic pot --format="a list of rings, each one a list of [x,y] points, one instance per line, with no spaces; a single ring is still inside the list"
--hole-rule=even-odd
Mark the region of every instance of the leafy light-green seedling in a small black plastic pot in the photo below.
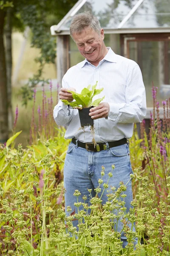
[[[76,93],[74,91],[68,90],[68,92],[72,93],[73,102],[68,102],[66,99],[62,99],[62,102],[65,105],[70,105],[72,108],[77,108],[79,110],[79,118],[80,124],[82,127],[86,125],[94,125],[94,120],[89,116],[89,112],[91,108],[94,108],[99,105],[99,103],[105,98],[99,98],[93,101],[93,97],[102,92],[103,88],[96,89],[96,84],[91,86],[88,85],[87,88],[84,88],[81,93]]]

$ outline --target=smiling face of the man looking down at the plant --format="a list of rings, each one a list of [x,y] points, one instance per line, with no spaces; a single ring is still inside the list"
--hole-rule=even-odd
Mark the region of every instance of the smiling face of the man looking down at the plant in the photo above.
[[[97,66],[108,52],[104,43],[104,31],[101,29],[98,34],[94,29],[88,27],[81,34],[74,33],[73,40],[77,44],[79,52],[87,58],[91,64]]]

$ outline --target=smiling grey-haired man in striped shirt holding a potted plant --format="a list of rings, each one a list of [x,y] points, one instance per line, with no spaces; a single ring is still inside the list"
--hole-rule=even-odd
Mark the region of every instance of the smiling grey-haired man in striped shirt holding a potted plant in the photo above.
[[[91,194],[94,196],[102,166],[105,167],[103,183],[107,183],[107,174],[111,171],[111,166],[115,165],[108,189],[112,186],[118,188],[120,181],[126,184],[130,179],[133,172],[127,138],[133,134],[133,123],[142,122],[146,114],[146,98],[138,64],[116,55],[110,47],[105,46],[104,31],[95,16],[90,12],[76,15],[71,22],[70,33],[85,60],[67,71],[62,79],[59,98],[71,102],[73,98],[68,90],[80,93],[84,87],[94,85],[96,81],[97,88],[104,88],[99,98],[105,96],[105,102],[91,108],[89,113],[94,119],[95,141],[102,143],[100,151],[88,144],[92,143],[90,126],[79,129],[77,109],[72,109],[61,101],[54,108],[57,125],[68,126],[65,138],[72,139],[65,158],[64,185],[65,208],[70,206],[74,211],[74,202],[77,201],[73,196],[74,191],[80,191],[79,200],[82,200],[83,195],[87,196],[86,203],[89,204],[87,188],[92,189]],[[90,151],[86,150],[87,145]],[[102,195],[103,204],[107,201],[106,194],[107,189]],[[131,182],[127,184],[126,194],[125,207],[129,211],[133,199]],[[122,224],[119,222],[118,231],[121,230]],[[125,247],[127,239],[123,232],[121,240]]]

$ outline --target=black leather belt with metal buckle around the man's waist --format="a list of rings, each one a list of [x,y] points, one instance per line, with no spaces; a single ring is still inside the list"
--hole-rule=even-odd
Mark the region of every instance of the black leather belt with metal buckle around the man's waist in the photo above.
[[[76,145],[76,140],[77,140],[76,138],[73,138],[71,141],[72,141],[72,143],[74,143]],[[109,148],[117,147],[117,146],[120,146],[120,145],[123,145],[126,143],[127,143],[126,138],[124,138],[122,140],[108,141]],[[94,147],[93,143],[84,143],[79,140],[77,141],[77,146],[81,147],[81,148],[85,148],[85,149],[87,149],[87,151],[94,151],[94,152],[106,150],[106,147],[107,147],[105,142],[96,143],[96,146]]]

